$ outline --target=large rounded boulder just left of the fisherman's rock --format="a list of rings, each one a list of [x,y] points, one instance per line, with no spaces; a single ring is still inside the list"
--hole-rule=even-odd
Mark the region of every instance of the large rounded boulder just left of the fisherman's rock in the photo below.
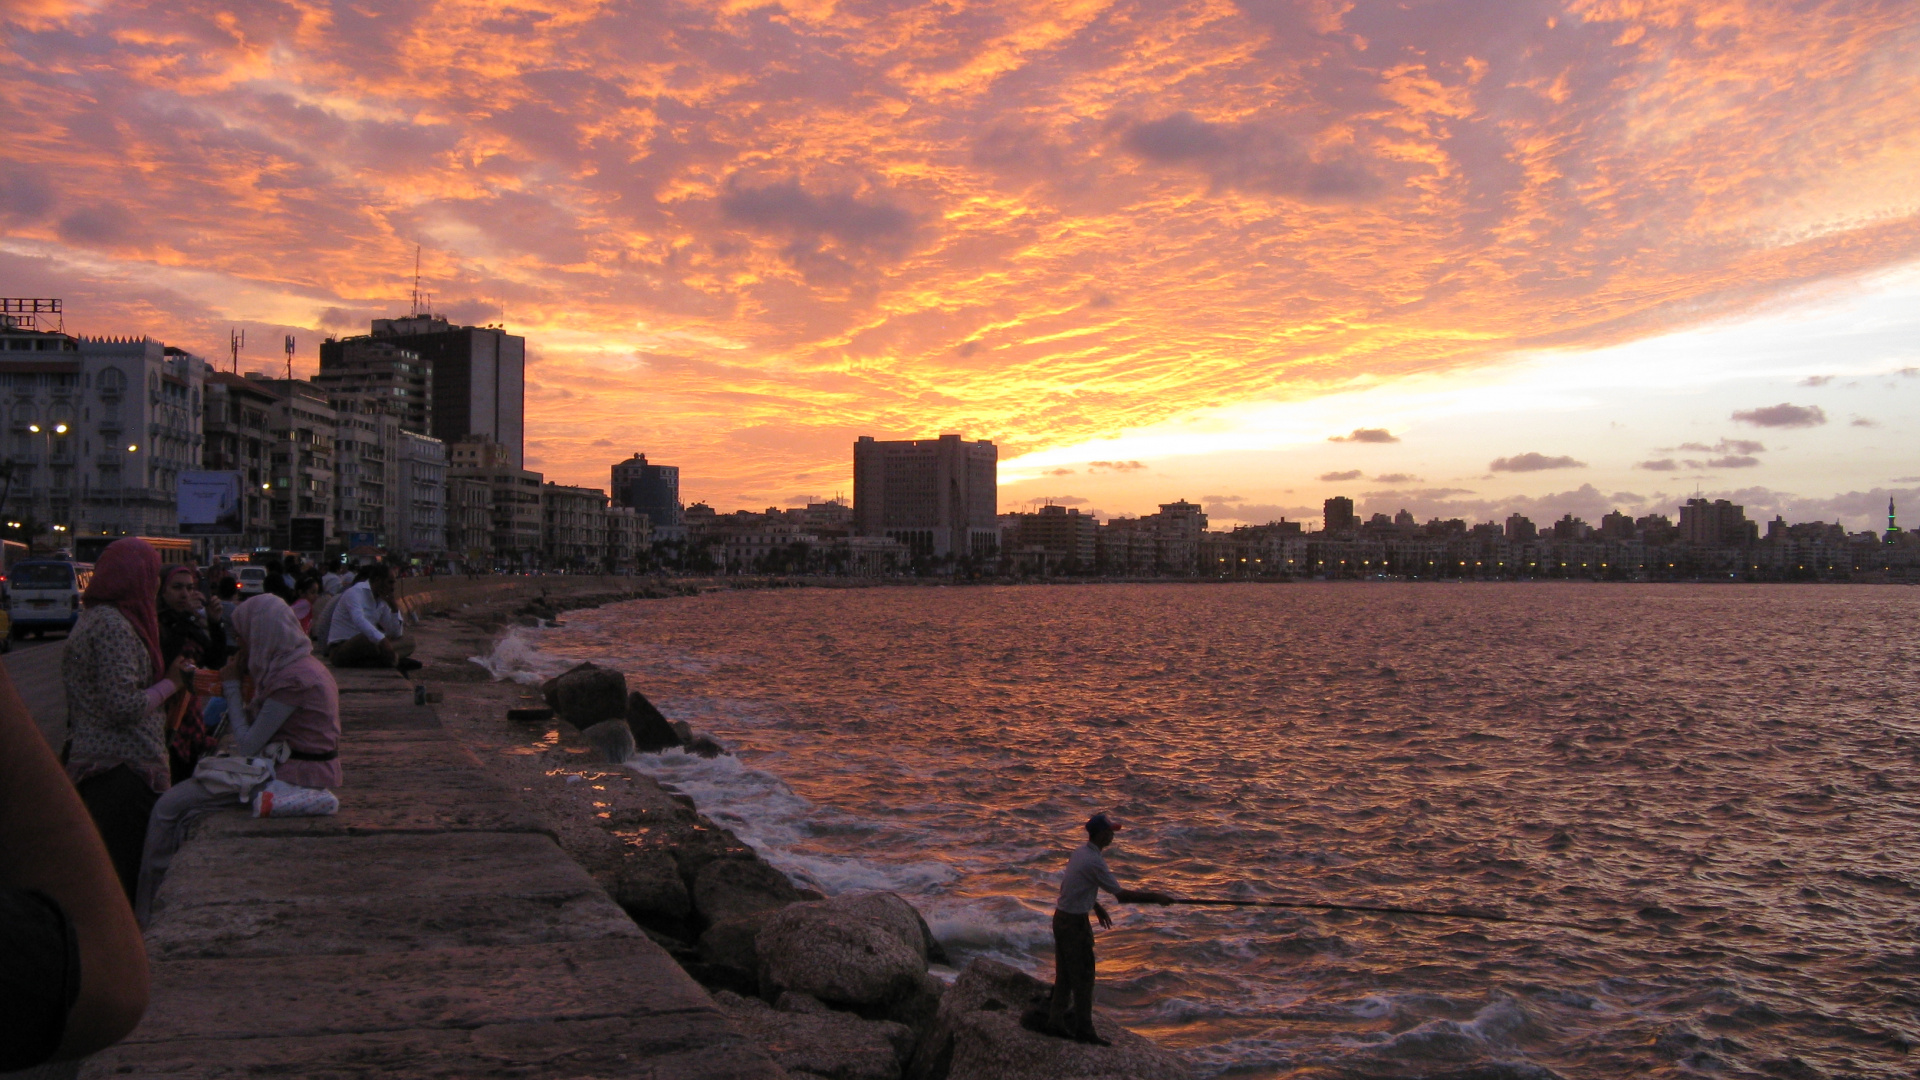
[[[929,992],[918,924],[872,896],[783,907],[766,920],[755,947],[760,992],[768,997],[797,990],[872,1015],[925,999]]]

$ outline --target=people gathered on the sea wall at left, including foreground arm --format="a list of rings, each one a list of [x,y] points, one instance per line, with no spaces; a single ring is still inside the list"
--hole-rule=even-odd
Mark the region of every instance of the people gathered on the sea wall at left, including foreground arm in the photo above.
[[[0,1072],[138,1022],[140,926],[196,817],[338,809],[328,661],[419,667],[386,565],[265,569],[242,596],[230,575],[163,567],[136,536],[109,544],[61,655],[58,757],[0,671]]]

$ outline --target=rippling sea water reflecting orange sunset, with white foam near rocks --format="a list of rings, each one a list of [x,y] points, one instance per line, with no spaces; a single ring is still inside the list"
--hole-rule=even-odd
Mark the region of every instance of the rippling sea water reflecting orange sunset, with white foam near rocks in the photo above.
[[[733,757],[634,767],[795,878],[1050,978],[1121,882],[1567,926],[1110,905],[1100,1001],[1233,1076],[1912,1076],[1920,592],[1121,584],[728,592],[488,663],[620,667]]]

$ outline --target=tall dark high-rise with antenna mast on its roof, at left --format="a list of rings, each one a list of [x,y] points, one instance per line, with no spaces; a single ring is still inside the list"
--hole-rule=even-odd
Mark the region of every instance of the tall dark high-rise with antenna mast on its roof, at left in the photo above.
[[[348,338],[338,342],[346,350]],[[367,340],[426,361],[432,425],[442,442],[482,436],[526,463],[526,338],[499,327],[455,327],[444,315],[374,319]]]

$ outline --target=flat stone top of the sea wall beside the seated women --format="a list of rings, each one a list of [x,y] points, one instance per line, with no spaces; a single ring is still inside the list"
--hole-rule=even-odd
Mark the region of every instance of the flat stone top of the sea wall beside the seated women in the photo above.
[[[202,822],[146,1020],[81,1076],[785,1076],[411,682],[338,678],[340,813]]]

